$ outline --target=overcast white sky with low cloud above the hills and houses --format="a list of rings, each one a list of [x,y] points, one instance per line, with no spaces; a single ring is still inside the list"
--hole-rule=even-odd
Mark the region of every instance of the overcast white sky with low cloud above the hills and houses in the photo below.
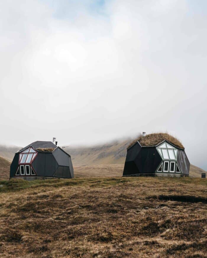
[[[0,1],[2,144],[169,132],[207,170],[207,1]]]

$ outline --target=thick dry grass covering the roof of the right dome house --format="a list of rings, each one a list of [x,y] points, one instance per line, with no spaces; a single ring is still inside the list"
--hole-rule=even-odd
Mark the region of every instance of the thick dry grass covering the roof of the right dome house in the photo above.
[[[155,146],[164,140],[167,140],[168,142],[174,144],[175,146],[184,149],[184,146],[176,137],[167,133],[154,133],[154,134],[147,134],[144,137],[140,136],[138,137],[138,139],[135,139],[134,141],[132,141],[128,146],[128,148],[131,147],[133,144],[135,144],[135,142],[137,141],[142,146]]]

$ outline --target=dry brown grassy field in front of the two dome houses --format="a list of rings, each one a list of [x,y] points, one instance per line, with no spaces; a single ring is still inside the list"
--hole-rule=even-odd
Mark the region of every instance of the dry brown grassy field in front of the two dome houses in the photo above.
[[[13,179],[0,185],[1,257],[207,256],[206,179]]]

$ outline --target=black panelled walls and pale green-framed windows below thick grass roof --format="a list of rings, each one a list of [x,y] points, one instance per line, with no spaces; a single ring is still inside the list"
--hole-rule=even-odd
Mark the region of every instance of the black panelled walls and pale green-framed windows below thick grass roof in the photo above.
[[[190,162],[185,150],[168,141],[145,147],[136,142],[127,149],[123,176],[189,175]]]

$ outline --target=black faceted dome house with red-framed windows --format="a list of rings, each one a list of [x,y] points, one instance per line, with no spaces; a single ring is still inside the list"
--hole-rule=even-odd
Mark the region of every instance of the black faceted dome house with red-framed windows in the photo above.
[[[38,141],[22,148],[14,156],[10,178],[32,180],[38,177],[73,178],[70,155],[52,142]]]

